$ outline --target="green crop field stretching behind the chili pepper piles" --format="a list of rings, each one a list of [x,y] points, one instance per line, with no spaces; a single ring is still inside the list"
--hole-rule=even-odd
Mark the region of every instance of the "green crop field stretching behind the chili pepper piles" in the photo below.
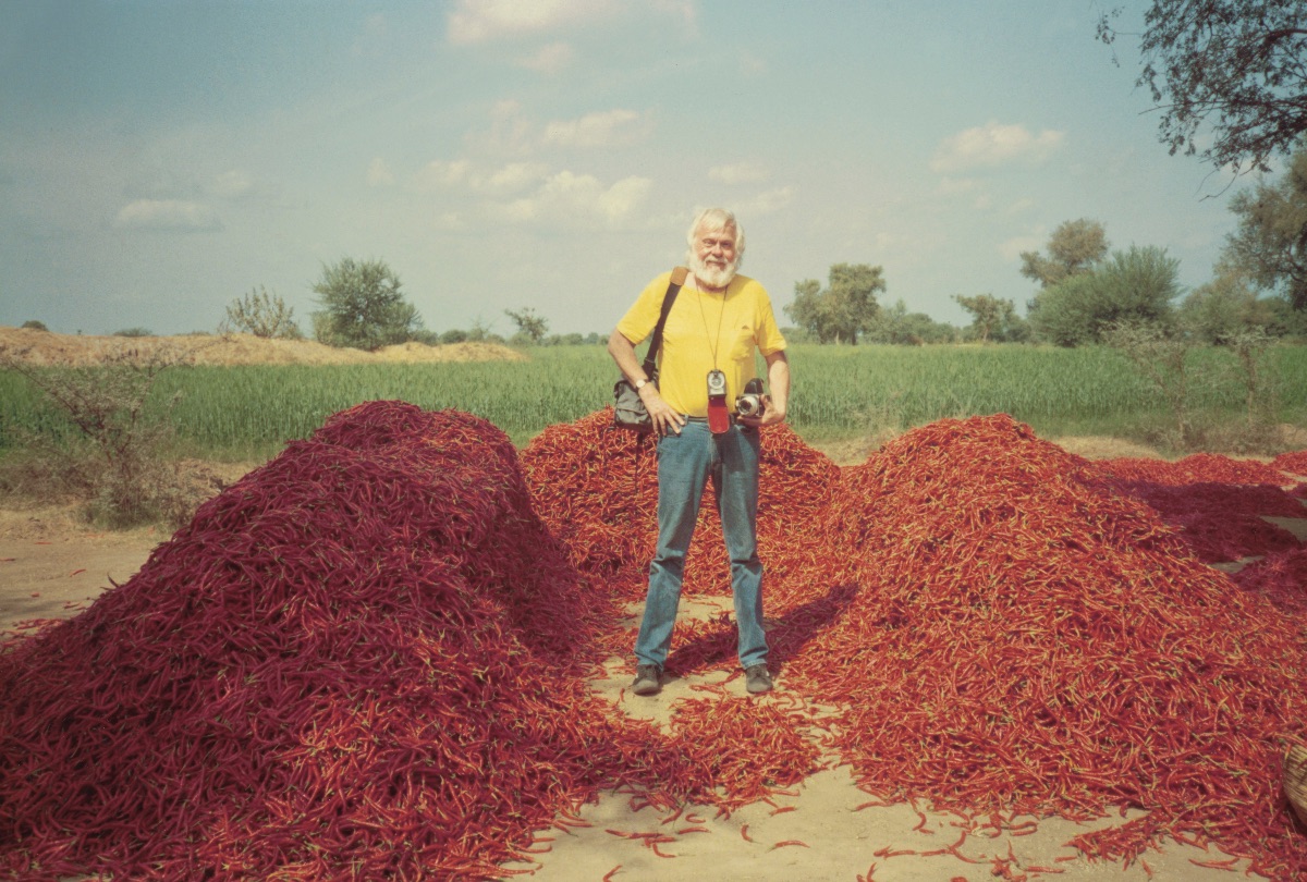
[[[361,401],[401,399],[491,421],[518,444],[610,401],[617,370],[601,346],[541,348],[525,362],[184,367],[161,375],[174,393],[186,452],[263,459]],[[1307,348],[1273,350],[1281,419],[1303,425]],[[1102,348],[795,346],[791,423],[809,442],[906,430],[942,417],[1009,413],[1046,436],[1123,434],[1166,414],[1165,402],[1117,353]],[[1199,350],[1191,405],[1238,418],[1243,388],[1233,357]],[[0,444],[14,427],[59,435],[67,422],[27,380],[0,372]]]

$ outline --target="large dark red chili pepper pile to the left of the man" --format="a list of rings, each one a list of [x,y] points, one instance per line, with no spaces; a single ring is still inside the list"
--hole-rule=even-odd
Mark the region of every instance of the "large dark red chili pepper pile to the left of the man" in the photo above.
[[[608,608],[499,430],[339,414],[0,656],[0,875],[501,875],[669,776],[580,676]]]

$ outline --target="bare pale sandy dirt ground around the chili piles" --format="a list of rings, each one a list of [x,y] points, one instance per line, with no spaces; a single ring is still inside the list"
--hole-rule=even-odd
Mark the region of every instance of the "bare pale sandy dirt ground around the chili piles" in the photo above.
[[[1125,451],[1111,439],[1065,439],[1061,443],[1089,456],[1151,455],[1138,448]],[[856,444],[826,452],[844,463],[865,456]],[[33,619],[76,615],[114,583],[128,580],[156,546],[167,540],[169,536],[157,529],[89,531],[72,508],[0,510],[0,632]],[[714,600],[686,598],[681,617],[711,617],[721,609]],[[630,622],[637,622],[640,604],[631,604],[629,613]],[[630,678],[629,660],[614,657],[605,676],[593,682],[593,689],[627,715],[664,725],[677,699],[699,695],[695,686],[721,685],[740,700],[750,700],[741,678],[720,672],[673,679],[654,698],[633,695]],[[776,693],[762,700],[786,700],[783,677],[778,678]],[[966,836],[958,851],[968,860],[948,853],[920,856],[914,852],[957,843],[962,836],[955,826],[958,818],[925,810],[928,806],[919,806],[923,809],[919,813],[906,804],[859,808],[867,802],[868,796],[857,789],[844,766],[810,776],[793,796],[778,797],[774,804],[745,806],[728,817],[718,817],[714,808],[690,806],[680,818],[669,818],[654,808],[631,805],[626,794],[610,793],[582,810],[580,817],[588,827],[569,825],[540,831],[537,862],[506,869],[532,870],[531,878],[541,882],[603,879],[616,868],[620,869],[610,877],[614,882],[719,878],[852,882],[859,874],[865,877],[874,865],[874,879],[979,882],[1004,878],[995,865],[995,858],[1002,858],[1010,873],[1006,878],[1068,882],[1231,878],[1229,870],[1196,865],[1226,856],[1180,843],[1170,843],[1131,866],[1089,862],[1065,843],[1095,825],[1076,825],[1060,818],[1038,821],[1030,828],[993,838]],[[1120,823],[1120,819],[1102,823]],[[640,838],[617,835],[655,831],[673,835],[674,841],[660,844],[655,852]],[[1235,870],[1246,868],[1247,861],[1233,866]]]

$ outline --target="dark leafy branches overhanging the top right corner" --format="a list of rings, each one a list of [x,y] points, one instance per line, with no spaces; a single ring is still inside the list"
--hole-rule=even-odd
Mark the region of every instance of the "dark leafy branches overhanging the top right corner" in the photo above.
[[[1099,18],[1104,43],[1119,34],[1117,16]],[[1153,0],[1144,24],[1136,85],[1162,111],[1158,140],[1172,155],[1199,153],[1196,136],[1209,123],[1216,139],[1199,155],[1218,169],[1265,171],[1307,131],[1302,0]]]

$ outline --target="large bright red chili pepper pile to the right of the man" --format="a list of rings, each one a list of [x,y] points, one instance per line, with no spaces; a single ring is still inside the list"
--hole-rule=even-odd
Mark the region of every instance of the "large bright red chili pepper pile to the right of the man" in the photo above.
[[[878,794],[1137,808],[1076,844],[1213,841],[1299,875],[1280,757],[1307,719],[1300,629],[1119,487],[1002,416],[891,442],[844,470],[822,528],[853,551],[833,580],[859,591],[791,682],[846,708],[833,743]]]

